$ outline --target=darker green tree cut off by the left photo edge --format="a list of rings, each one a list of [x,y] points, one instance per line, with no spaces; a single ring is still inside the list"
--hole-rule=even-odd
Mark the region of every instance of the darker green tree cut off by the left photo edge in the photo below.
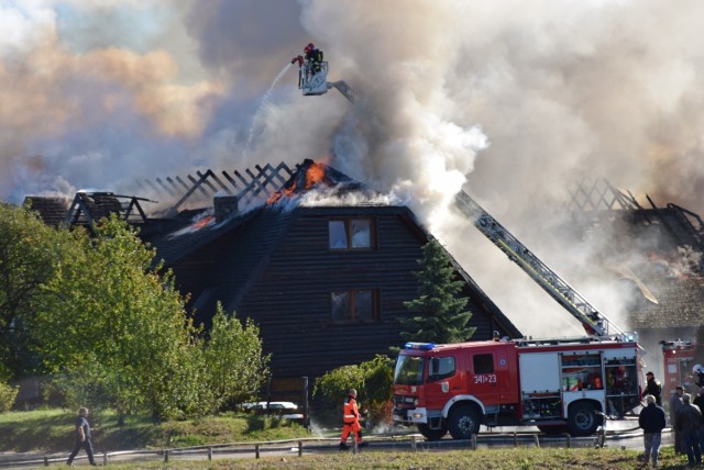
[[[0,381],[42,371],[29,327],[69,238],[29,208],[0,203]]]

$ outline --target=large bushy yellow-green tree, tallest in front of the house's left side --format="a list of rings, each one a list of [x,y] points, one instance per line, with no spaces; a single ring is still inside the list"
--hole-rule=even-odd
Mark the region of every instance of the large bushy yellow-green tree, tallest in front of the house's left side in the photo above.
[[[95,236],[73,236],[80,249],[66,253],[70,259],[61,259],[45,283],[32,328],[46,367],[63,374],[67,396],[85,404],[183,414],[190,405],[182,388],[190,381],[173,378],[197,359],[196,332],[172,273],[152,269],[154,250],[114,216]]]

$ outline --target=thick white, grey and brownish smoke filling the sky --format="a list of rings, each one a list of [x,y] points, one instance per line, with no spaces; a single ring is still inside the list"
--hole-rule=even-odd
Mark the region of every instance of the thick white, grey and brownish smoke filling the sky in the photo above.
[[[407,201],[519,328],[564,332],[575,322],[451,198],[464,186],[573,284],[583,253],[546,232],[573,179],[603,176],[702,212],[703,10],[695,0],[0,0],[0,197],[125,192],[195,168],[331,158]],[[336,90],[299,94],[289,63],[310,41],[354,103]],[[584,289],[607,312],[617,302],[598,283]]]

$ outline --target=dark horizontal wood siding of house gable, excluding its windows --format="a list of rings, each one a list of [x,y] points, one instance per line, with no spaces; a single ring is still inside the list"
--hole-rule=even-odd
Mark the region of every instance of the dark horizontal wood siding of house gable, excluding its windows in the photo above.
[[[328,221],[340,215],[339,210],[304,211],[237,306],[238,316],[260,325],[275,376],[317,377],[402,345],[398,318],[409,314],[403,302],[417,295],[413,271],[419,269],[416,260],[427,239],[411,230],[406,215],[366,208],[356,215],[374,220],[376,248],[330,250]],[[352,289],[378,291],[378,323],[332,322],[331,292]],[[473,303],[470,309],[480,307]],[[479,327],[477,339],[494,329],[486,312],[476,312],[472,326]]]

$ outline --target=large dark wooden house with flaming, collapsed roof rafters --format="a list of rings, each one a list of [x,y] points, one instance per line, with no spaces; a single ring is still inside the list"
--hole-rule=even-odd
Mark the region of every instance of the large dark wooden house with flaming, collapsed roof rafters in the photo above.
[[[186,180],[145,182],[177,201],[134,223],[173,269],[178,289],[190,294],[197,324],[209,326],[218,302],[227,313],[252,318],[275,378],[317,377],[402,345],[399,320],[410,314],[404,302],[417,296],[413,272],[432,239],[407,206],[312,160]],[[34,202],[38,208],[41,198]],[[151,202],[81,193],[65,221],[90,224],[91,213],[133,219]],[[195,208],[201,202],[207,208]],[[470,299],[474,337],[520,337],[451,260]]]

